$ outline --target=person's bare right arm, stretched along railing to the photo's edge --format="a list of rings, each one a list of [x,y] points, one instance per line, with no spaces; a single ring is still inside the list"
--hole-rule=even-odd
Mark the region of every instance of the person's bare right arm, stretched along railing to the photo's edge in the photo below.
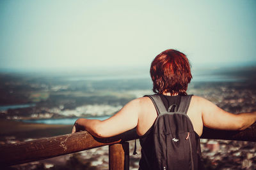
[[[233,114],[222,110],[207,99],[199,97],[199,100],[205,127],[222,130],[243,130],[256,121],[256,111]]]

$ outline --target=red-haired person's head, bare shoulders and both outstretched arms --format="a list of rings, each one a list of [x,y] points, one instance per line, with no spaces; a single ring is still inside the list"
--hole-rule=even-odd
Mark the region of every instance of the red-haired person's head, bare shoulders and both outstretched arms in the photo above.
[[[173,103],[179,107],[180,96],[186,95],[188,83],[192,76],[189,61],[177,50],[166,50],[153,60],[150,67],[153,91],[161,97],[168,108]],[[234,115],[218,108],[215,104],[198,96],[192,96],[189,104],[188,117],[195,133],[200,137],[203,127],[225,130],[243,130],[256,121],[256,112]],[[127,103],[122,110],[107,120],[88,120],[79,118],[72,132],[81,129],[98,138],[115,136],[136,127],[139,136],[148,138],[152,125],[157,118],[157,111],[149,97],[141,97]],[[147,141],[147,140],[140,141]],[[145,143],[142,143],[142,147]],[[143,159],[143,158],[142,158]],[[140,162],[143,166],[143,162]]]

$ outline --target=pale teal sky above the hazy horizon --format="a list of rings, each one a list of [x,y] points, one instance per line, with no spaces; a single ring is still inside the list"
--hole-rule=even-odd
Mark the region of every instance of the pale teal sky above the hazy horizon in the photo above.
[[[256,1],[0,1],[1,69],[256,66]]]

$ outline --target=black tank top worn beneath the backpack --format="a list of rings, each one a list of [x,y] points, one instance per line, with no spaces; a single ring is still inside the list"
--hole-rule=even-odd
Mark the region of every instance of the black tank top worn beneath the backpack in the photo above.
[[[181,96],[165,96],[163,94],[157,94],[161,97],[164,106],[166,108],[166,110],[168,110],[168,108],[172,105],[172,104],[176,104],[177,105],[177,110],[179,109],[179,104],[181,101]],[[154,162],[156,160],[153,159],[152,155],[154,152],[154,140],[153,140],[153,127],[154,124],[150,127],[150,129],[148,129],[148,131],[141,136],[140,138],[140,145],[141,145],[141,159],[140,159],[140,167],[139,169],[150,169],[150,167],[148,167],[148,165],[150,165],[150,162]],[[199,150],[200,150],[200,137],[198,136],[198,134],[195,133],[196,136],[196,145],[199,146]],[[199,145],[198,145],[199,144]],[[146,158],[147,157],[147,158]]]

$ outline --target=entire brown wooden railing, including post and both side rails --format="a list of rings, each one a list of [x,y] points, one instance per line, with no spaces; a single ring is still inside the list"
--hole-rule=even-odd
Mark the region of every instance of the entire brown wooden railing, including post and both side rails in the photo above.
[[[101,139],[83,131],[8,144],[0,147],[0,165],[12,166],[109,145],[109,169],[129,169],[129,143],[126,141],[138,138],[136,129]],[[217,131],[204,128],[201,138],[256,141],[256,124],[244,131]]]

